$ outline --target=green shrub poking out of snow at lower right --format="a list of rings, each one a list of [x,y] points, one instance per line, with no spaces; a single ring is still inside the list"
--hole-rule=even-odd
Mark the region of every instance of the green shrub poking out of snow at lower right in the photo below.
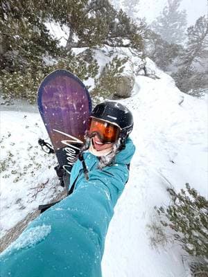
[[[208,201],[189,184],[179,193],[173,189],[168,189],[168,192],[171,204],[165,208],[155,207],[160,222],[165,229],[171,230],[173,240],[180,242],[182,249],[189,254],[193,276],[202,276],[197,275],[193,268],[208,276]]]

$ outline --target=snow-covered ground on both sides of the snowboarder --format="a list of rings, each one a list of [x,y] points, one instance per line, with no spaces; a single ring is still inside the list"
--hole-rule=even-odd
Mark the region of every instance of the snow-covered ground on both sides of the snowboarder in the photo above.
[[[137,150],[107,233],[104,277],[186,276],[180,247],[152,249],[148,224],[157,221],[154,206],[170,202],[168,187],[189,183],[208,195],[207,98],[180,92],[150,60],[147,66],[159,79],[137,76],[133,96],[121,101],[135,118]],[[62,190],[40,137],[47,135],[39,114],[1,111],[1,235]]]

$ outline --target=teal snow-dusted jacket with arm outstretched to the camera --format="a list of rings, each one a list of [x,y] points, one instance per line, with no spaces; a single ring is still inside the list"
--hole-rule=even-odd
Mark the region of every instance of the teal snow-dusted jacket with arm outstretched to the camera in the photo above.
[[[114,206],[128,181],[135,146],[128,139],[114,166],[98,170],[98,158],[76,161],[69,188],[73,193],[28,225],[0,256],[3,277],[100,277],[105,235]]]

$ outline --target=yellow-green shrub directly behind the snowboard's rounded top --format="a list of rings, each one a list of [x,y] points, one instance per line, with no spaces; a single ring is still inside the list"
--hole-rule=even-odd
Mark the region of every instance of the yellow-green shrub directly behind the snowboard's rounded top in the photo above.
[[[32,63],[31,63],[32,64]],[[98,73],[98,64],[93,60],[90,64],[81,58],[69,55],[59,58],[53,65],[46,66],[43,62],[35,62],[25,71],[8,72],[1,75],[0,89],[1,95],[6,100],[26,99],[34,103],[37,98],[37,89],[44,77],[55,69],[67,69],[78,76],[81,80],[95,76]]]

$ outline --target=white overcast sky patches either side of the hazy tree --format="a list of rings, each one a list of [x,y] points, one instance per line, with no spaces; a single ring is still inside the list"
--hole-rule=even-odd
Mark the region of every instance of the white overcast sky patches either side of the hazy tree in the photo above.
[[[140,10],[143,13],[140,17],[146,17],[150,23],[159,15],[166,2],[167,0],[140,0]],[[207,0],[182,0],[180,7],[187,10],[188,26],[195,24],[201,15],[207,15]]]

